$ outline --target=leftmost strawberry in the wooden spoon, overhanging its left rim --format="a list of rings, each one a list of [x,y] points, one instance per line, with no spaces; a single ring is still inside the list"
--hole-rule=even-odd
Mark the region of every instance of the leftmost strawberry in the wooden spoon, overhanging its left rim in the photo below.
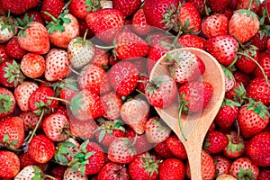
[[[145,90],[148,102],[158,108],[168,107],[175,102],[177,86],[174,79],[168,75],[157,76],[149,82]]]

